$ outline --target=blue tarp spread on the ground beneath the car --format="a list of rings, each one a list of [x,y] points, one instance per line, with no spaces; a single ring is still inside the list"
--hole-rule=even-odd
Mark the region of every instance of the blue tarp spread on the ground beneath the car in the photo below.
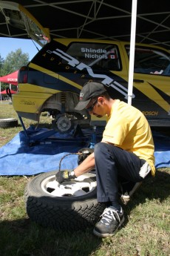
[[[60,134],[54,130],[29,128],[29,138],[24,131],[16,134],[10,142],[0,148],[0,175],[33,175],[41,172],[72,169],[77,166],[78,149],[88,147],[92,130],[84,129],[75,136]],[[153,132],[155,145],[155,166],[170,167],[170,138],[160,132]],[[44,139],[45,138],[45,139]],[[101,140],[97,133],[97,142]],[[64,159],[61,161],[61,158]]]

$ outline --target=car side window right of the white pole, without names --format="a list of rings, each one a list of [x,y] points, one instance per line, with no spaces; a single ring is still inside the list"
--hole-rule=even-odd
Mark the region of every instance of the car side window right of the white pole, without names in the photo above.
[[[129,56],[129,46],[126,53]],[[136,47],[134,72],[170,76],[170,54],[156,48]]]

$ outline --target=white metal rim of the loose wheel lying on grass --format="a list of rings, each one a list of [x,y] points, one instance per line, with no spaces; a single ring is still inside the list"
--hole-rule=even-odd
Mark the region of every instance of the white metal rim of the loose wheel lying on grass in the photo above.
[[[75,180],[59,184],[55,175],[52,175],[43,180],[41,189],[55,197],[80,197],[95,190],[97,183],[91,177],[95,177],[95,174],[84,174]]]

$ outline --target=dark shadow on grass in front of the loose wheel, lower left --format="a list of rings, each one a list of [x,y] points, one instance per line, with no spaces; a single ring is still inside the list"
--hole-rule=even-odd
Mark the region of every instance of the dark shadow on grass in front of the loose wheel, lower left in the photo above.
[[[1,222],[0,230],[1,256],[88,256],[101,245],[91,229],[62,232],[30,219]]]

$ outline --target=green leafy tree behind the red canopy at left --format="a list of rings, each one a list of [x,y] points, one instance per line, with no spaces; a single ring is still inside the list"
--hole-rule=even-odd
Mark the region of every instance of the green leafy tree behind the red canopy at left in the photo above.
[[[8,73],[13,73],[22,66],[27,65],[29,62],[29,54],[22,53],[21,48],[18,48],[16,52],[13,50],[8,53],[7,58],[4,59],[3,65],[1,66],[1,76],[6,76]]]

